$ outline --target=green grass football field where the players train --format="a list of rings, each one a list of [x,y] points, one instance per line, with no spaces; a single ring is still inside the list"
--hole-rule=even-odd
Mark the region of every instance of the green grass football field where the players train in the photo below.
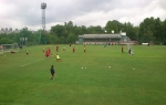
[[[134,45],[134,55],[121,45],[86,45],[86,53],[83,45],[76,53],[60,45],[62,62],[55,45],[44,45],[52,49],[48,59],[42,48],[0,54],[0,105],[166,105],[164,45]]]

